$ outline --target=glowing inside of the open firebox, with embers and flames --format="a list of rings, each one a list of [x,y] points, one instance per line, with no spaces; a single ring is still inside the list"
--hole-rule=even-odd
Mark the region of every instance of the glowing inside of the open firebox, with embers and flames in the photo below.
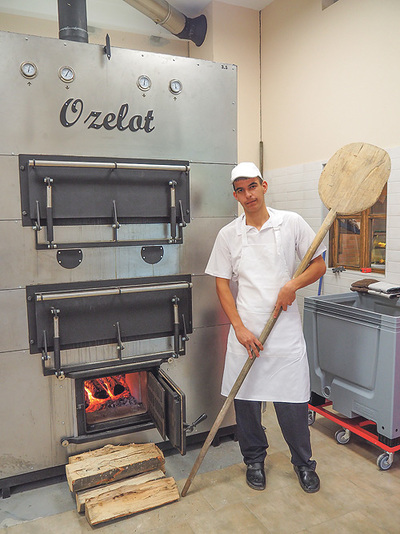
[[[147,372],[118,374],[84,381],[89,425],[147,412]]]

